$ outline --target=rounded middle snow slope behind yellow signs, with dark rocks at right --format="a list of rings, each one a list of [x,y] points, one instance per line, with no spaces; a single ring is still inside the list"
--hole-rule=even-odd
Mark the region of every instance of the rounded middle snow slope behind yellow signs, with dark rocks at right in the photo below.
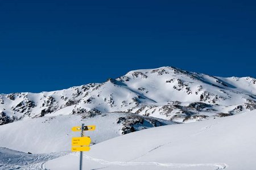
[[[102,113],[90,118],[83,115],[39,117],[0,126],[0,147],[42,154],[71,151],[72,137],[80,137],[73,126],[96,125],[95,131],[86,131],[93,143],[106,141],[119,135],[154,126],[174,124],[131,113]]]

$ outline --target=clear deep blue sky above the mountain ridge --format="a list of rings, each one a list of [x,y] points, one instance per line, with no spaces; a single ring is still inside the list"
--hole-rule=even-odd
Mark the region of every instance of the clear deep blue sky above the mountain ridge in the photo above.
[[[256,1],[0,0],[0,93],[175,66],[256,77]]]

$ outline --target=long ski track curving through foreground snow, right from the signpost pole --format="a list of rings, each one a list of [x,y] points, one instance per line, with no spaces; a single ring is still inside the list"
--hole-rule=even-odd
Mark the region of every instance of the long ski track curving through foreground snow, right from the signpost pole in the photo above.
[[[78,156],[76,154],[72,154]],[[159,162],[109,162],[108,160],[96,159],[91,156],[84,155],[88,160],[98,162],[102,165],[121,165],[121,166],[134,166],[134,165],[156,165],[160,167],[169,167],[169,168],[185,168],[185,167],[214,167],[216,170],[228,168],[228,165],[225,163],[209,163],[209,164],[178,164],[178,163],[159,163]]]

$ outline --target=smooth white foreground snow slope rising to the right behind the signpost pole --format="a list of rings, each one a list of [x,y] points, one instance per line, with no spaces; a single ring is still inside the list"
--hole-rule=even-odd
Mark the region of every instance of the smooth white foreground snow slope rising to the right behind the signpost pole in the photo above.
[[[256,112],[137,131],[92,146],[84,169],[255,169]],[[79,153],[45,163],[78,169]]]

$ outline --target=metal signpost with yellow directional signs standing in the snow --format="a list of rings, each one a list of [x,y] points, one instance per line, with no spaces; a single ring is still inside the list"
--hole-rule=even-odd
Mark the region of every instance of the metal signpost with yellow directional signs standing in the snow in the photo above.
[[[81,131],[81,137],[74,137],[72,138],[71,142],[71,151],[72,152],[77,152],[80,151],[80,170],[82,170],[82,151],[89,151],[90,150],[90,137],[84,137],[84,131],[87,130],[95,130],[96,126],[95,125],[88,125],[84,126],[75,126],[72,128],[72,131]]]

